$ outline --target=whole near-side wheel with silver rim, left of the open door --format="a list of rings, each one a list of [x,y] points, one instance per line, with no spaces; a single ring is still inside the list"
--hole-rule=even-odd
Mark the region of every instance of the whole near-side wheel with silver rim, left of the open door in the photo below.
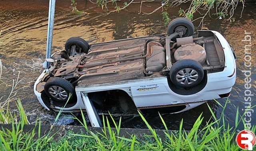
[[[47,96],[56,102],[66,102],[69,98],[72,100],[75,95],[74,86],[63,78],[50,78],[44,85],[44,92]]]

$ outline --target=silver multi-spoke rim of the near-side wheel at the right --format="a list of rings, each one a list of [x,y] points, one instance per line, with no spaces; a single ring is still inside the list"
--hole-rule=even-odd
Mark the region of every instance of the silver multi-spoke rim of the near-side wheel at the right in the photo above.
[[[176,80],[180,84],[189,85],[196,82],[198,79],[198,72],[191,68],[185,68],[176,74]]]

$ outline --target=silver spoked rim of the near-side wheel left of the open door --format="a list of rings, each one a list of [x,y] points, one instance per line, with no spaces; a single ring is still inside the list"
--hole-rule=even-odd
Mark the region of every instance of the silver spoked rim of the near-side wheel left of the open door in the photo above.
[[[48,92],[53,98],[58,100],[66,100],[68,98],[68,93],[60,86],[50,86]]]

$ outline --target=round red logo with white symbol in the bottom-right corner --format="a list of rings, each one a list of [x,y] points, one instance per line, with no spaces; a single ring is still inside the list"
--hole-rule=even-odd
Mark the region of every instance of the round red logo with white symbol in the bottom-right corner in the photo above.
[[[252,147],[255,145],[255,139],[252,131],[243,130],[236,136],[236,143],[241,149],[252,151]]]

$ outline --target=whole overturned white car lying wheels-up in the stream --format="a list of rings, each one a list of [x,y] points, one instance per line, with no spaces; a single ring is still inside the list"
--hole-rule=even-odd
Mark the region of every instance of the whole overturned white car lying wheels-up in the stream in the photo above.
[[[186,18],[174,19],[167,34],[89,45],[71,37],[52,55],[34,84],[44,108],[85,109],[92,126],[98,110],[122,93],[139,110],[178,113],[230,95],[236,80],[235,55],[217,31],[196,31]],[[65,106],[66,104],[66,106]]]

